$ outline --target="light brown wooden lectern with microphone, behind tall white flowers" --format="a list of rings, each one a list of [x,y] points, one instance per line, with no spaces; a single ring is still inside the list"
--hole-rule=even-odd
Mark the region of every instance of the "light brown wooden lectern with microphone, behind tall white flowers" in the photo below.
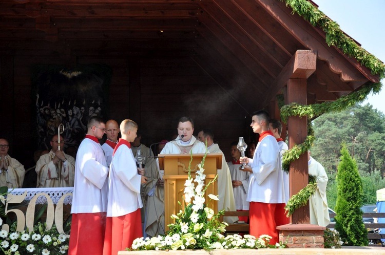
[[[190,154],[160,154],[159,167],[164,169],[164,221],[165,230],[168,231],[168,225],[175,223],[175,220],[171,219],[171,215],[177,215],[179,210],[183,210],[185,202],[184,195],[184,183],[188,178],[188,165],[191,159]],[[195,172],[199,170],[198,164],[201,163],[204,154],[192,154],[191,161],[191,178],[195,179]],[[217,175],[217,169],[222,168],[222,154],[212,153],[207,154],[204,161],[204,174],[206,175],[205,184],[213,180]],[[196,186],[196,182],[194,182]],[[205,193],[206,206],[214,210],[215,214],[218,213],[217,201],[210,200],[209,194],[218,195],[217,182],[211,183]],[[194,199],[194,198],[192,198]],[[182,203],[182,206],[178,204],[178,201]]]

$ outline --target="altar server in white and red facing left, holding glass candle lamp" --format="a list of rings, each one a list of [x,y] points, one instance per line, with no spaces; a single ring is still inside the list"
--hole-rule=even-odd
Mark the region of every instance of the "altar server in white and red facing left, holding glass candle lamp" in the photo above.
[[[287,223],[285,216],[285,188],[279,146],[273,133],[268,130],[269,116],[266,111],[253,113],[254,133],[259,133],[253,159],[241,157],[246,162],[244,171],[250,172],[247,201],[249,206],[250,235],[269,235],[270,244],[278,239],[277,226]]]

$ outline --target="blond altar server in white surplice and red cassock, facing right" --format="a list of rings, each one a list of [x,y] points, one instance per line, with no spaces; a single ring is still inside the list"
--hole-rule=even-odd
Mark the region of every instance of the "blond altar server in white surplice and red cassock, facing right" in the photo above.
[[[143,236],[140,187],[141,183],[146,182],[146,177],[138,174],[130,145],[137,137],[138,124],[129,119],[123,120],[120,130],[122,138],[113,151],[108,176],[103,255],[118,254],[118,251],[131,247],[134,239]]]

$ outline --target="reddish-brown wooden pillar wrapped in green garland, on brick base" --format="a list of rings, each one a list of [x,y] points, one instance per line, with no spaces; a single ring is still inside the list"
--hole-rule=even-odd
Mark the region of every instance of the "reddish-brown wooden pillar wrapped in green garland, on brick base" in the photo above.
[[[298,102],[306,104],[306,79],[289,79],[287,81],[287,100],[288,103]],[[302,143],[307,136],[307,118],[292,116],[288,118],[288,142],[289,148],[295,144]],[[298,160],[290,164],[290,196],[293,196],[304,188],[309,182],[307,167],[307,155],[303,154]],[[292,223],[310,223],[309,204],[303,206],[292,215]]]

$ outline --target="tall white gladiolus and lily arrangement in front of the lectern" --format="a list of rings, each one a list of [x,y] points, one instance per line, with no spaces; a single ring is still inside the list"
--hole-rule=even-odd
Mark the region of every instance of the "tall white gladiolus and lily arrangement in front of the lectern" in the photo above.
[[[166,236],[153,238],[138,238],[133,241],[129,250],[178,250],[178,249],[230,249],[230,248],[284,248],[285,244],[277,243],[270,245],[272,237],[262,235],[258,239],[251,235],[243,237],[239,235],[224,236],[227,223],[220,222],[219,218],[224,215],[224,211],[214,214],[214,210],[205,206],[204,194],[207,187],[216,181],[217,176],[206,186],[204,180],[204,160],[198,165],[195,179],[191,177],[190,165],[188,167],[188,179],[185,181],[184,210],[180,210],[177,215],[172,215],[175,223],[169,226]],[[196,185],[195,185],[195,183]],[[217,196],[210,194],[211,200],[219,200]],[[192,200],[194,198],[194,200]],[[181,205],[181,203],[179,202]]]

